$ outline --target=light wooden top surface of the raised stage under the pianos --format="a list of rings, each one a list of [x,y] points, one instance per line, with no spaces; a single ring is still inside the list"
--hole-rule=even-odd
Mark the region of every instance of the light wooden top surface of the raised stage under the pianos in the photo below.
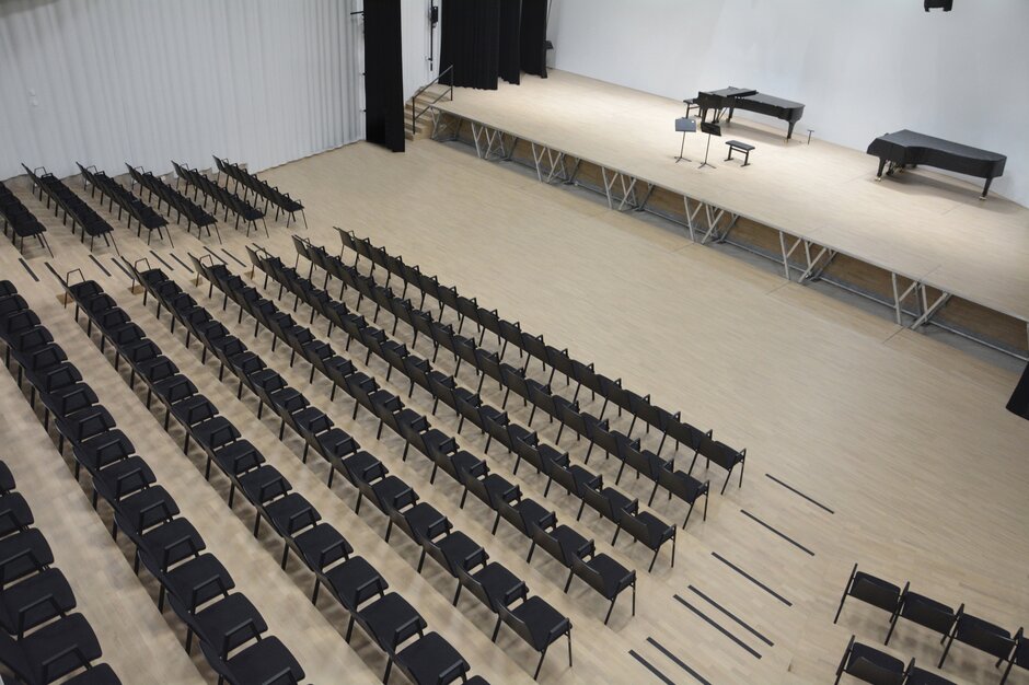
[[[436,106],[1029,322],[1029,209],[996,195],[979,201],[979,179],[920,169],[875,183],[875,158],[818,131],[805,144],[803,119],[787,143],[785,125],[761,116],[737,117],[712,139],[717,169],[697,169],[701,133],[685,139],[694,162],[677,164],[681,101],[556,70],[497,91],[458,89]],[[722,162],[733,138],[756,146],[745,169]]]

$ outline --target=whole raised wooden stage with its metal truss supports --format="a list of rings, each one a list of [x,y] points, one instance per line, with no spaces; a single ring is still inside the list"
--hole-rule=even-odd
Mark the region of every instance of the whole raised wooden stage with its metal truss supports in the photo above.
[[[683,96],[695,93],[684,88]],[[808,144],[817,113],[806,113],[789,142],[785,123],[737,113],[710,140],[716,167],[697,169],[708,142],[700,132],[685,138],[692,161],[675,162],[681,102],[573,73],[456,89],[435,107],[433,136],[470,133],[481,158],[518,155],[551,183],[579,183],[594,167],[612,209],[681,196],[678,219],[696,241],[725,240],[750,221],[778,234],[776,256],[791,280],[817,278],[846,256],[889,275],[898,324],[921,328],[963,300],[1017,322],[1015,353],[1029,345],[1029,209],[997,195],[981,201],[980,179],[928,169],[876,182],[877,160],[863,150],[822,141],[817,130]],[[747,167],[725,161],[732,139],[756,146]]]

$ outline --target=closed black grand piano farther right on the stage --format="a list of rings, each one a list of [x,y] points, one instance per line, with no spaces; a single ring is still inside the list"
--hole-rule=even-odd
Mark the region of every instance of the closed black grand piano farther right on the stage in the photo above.
[[[879,136],[868,146],[868,154],[879,158],[877,181],[882,178],[882,169],[887,162],[890,163],[887,175],[892,175],[894,169],[925,164],[985,178],[986,185],[983,186],[983,194],[979,198],[981,200],[986,199],[993,179],[1004,174],[1004,163],[1007,162],[1006,156],[996,152],[970,148],[907,129]]]

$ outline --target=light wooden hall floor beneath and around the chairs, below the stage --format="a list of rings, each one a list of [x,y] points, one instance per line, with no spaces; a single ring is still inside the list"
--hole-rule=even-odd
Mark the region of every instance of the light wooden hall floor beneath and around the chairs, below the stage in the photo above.
[[[949,604],[964,602],[970,612],[1013,630],[1029,623],[1029,501],[1025,497],[1029,425],[1003,408],[1017,380],[1009,371],[695,246],[674,231],[612,212],[592,199],[541,185],[431,141],[412,143],[403,155],[359,143],[263,175],[307,204],[309,235],[315,242],[337,245],[333,224],[370,235],[407,262],[439,275],[443,282],[521,321],[525,329],[543,333],[547,341],[569,347],[575,356],[594,361],[599,370],[623,378],[629,387],[682,409],[691,422],[713,428],[716,437],[748,449],[742,489],[730,485],[726,496],[713,495],[706,523],[695,512],[689,530],[680,532],[674,569],[668,567],[666,552],[655,572],[647,574],[649,555],[622,541],[612,548],[609,524],[590,516],[575,524],[596,536],[599,550],[637,568],[640,576],[636,617],[628,615],[626,596],[611,625],[604,627],[605,607],[592,591],[577,583],[569,595],[563,595],[564,573],[555,562],[536,555],[527,565],[523,538],[510,529],[490,537],[490,518],[483,508],[459,510],[460,490],[453,483],[441,478],[436,487],[430,486],[424,463],[402,463],[398,439],[384,433],[377,441],[375,422],[367,414],[350,420],[350,399],[337,395],[331,405],[322,380],[305,390],[314,405],[481,542],[495,560],[524,578],[533,593],[571,617],[575,667],[569,670],[557,650],[547,658],[542,682],[658,682],[629,650],[672,682],[695,682],[648,638],[713,683],[831,682],[852,632],[875,643],[887,628],[885,616],[857,603],[844,609],[840,625],[832,625],[854,561],[900,583],[910,579],[916,590]],[[26,204],[38,209],[24,186],[14,185]],[[39,216],[46,214],[41,211]],[[100,280],[297,490],[417,606],[431,629],[459,647],[473,672],[494,683],[529,681],[527,671],[534,659],[523,645],[501,631],[499,647],[492,646],[493,624],[484,609],[471,600],[462,600],[460,612],[450,607],[452,581],[440,569],[430,564],[425,573],[416,574],[417,554],[409,541],[395,536],[384,543],[385,521],[370,508],[356,516],[352,489],[337,484],[329,491],[321,464],[300,464],[299,439],[287,436],[286,443],[279,443],[277,422],[267,416],[257,421],[253,399],[236,400],[234,386],[218,382],[216,365],[200,368],[197,347],[187,351],[181,337],[171,336],[163,322],[157,322],[152,309],[144,309],[141,298],[128,291],[128,279],[107,254],[97,251],[109,277],[67,229],[53,217],[47,222],[57,258],[41,256],[37,248],[30,249],[26,258],[41,280],[33,281],[10,243],[0,246],[4,277],[15,281],[72,361],[86,370],[101,400],[200,530],[210,550],[227,565],[240,590],[258,605],[270,631],[297,654],[309,682],[372,682],[384,663],[359,631],[354,649],[346,647],[340,636],[344,613],[332,609],[328,602],[312,608],[303,597],[310,577],[296,564],[289,572],[280,571],[280,548],[274,538],[265,535],[254,541],[247,532],[252,512],[240,502],[233,512],[228,511],[223,481],[216,477],[215,487],[207,485],[203,464],[183,456],[157,419],[147,416],[77,327],[70,311],[60,307],[57,281],[45,262],[60,274],[81,267],[89,278]],[[117,235],[127,257],[149,255],[157,265],[147,246],[124,228]],[[271,224],[271,235],[257,242],[284,257],[290,255],[289,233],[281,222]],[[231,230],[224,236],[229,253],[245,258],[247,240]],[[154,246],[154,252],[174,267],[169,274],[187,286],[189,274],[171,255],[186,260],[187,252],[197,254],[203,246],[181,230],[175,230],[174,239],[175,249]],[[238,272],[244,270],[228,260]],[[206,298],[206,289],[203,292]],[[211,307],[216,309],[213,303]],[[236,326],[234,316],[222,316],[222,321],[290,383],[307,384],[307,369],[289,370],[288,355],[281,349],[270,352],[267,335],[254,341],[248,337],[252,327]],[[324,330],[317,326],[323,337]],[[334,334],[333,344],[342,349],[342,335]],[[441,364],[449,368],[446,361]],[[384,382],[380,363],[373,361],[371,371]],[[406,384],[396,381],[394,374],[392,387],[406,392]],[[74,491],[68,469],[58,463],[56,450],[14,394],[9,376],[0,379],[0,409],[14,437],[3,458],[37,512],[58,565],[72,579],[106,659],[126,683],[210,680],[199,658],[190,665],[185,657],[180,647],[184,631],[177,620],[159,616],[154,602],[143,596],[143,587],[154,594],[152,582],[141,584],[130,577],[126,555],[105,537],[85,495]],[[489,390],[492,400],[499,402],[499,397],[495,388]],[[411,404],[425,413],[430,408],[424,394],[416,393]],[[455,423],[443,414],[433,422],[453,431]],[[520,407],[513,414],[522,421],[528,418]],[[555,432],[551,428],[544,434],[553,439]],[[459,442],[482,454],[484,441],[469,431]],[[569,444],[567,438],[563,444]],[[583,453],[585,448],[573,448],[574,458],[581,460]],[[687,457],[682,455],[682,466]],[[497,472],[509,476],[512,460],[496,450],[490,450],[490,460]],[[591,460],[590,465],[613,481],[612,463]],[[834,513],[794,495],[766,474]],[[713,471],[712,477],[720,487],[721,472]],[[520,471],[514,480],[527,495],[543,501],[542,479]],[[635,496],[649,494],[643,481],[623,479],[622,485]],[[47,509],[47,500],[59,504]],[[562,521],[574,523],[577,502],[554,491],[545,501]],[[669,521],[681,521],[684,514],[677,502],[659,500],[655,509]],[[782,531],[813,556],[741,510]],[[791,606],[732,571],[713,553],[768,585]],[[93,571],[97,567],[103,574]],[[691,588],[766,636],[774,647]],[[761,659],[675,601],[677,594]],[[889,650],[905,660],[916,657],[926,666],[939,653],[932,636],[911,625],[898,628]],[[968,683],[999,677],[990,659],[961,646],[955,647],[945,674]],[[1010,682],[1029,680],[1025,672],[1016,672]]]

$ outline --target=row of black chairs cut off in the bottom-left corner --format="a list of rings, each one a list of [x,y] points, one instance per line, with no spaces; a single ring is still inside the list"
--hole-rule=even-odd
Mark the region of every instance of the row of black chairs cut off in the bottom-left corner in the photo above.
[[[11,469],[0,461],[0,664],[21,683],[117,685],[102,657],[93,628],[77,606],[74,592],[15,491]]]

